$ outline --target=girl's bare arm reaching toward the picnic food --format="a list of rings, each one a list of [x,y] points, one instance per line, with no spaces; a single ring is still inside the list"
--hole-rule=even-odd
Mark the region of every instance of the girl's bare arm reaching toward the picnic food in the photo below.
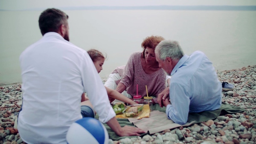
[[[117,99],[119,101],[123,101],[123,102],[128,103],[128,104],[137,104],[136,102],[134,102],[130,98],[127,98],[126,96],[120,94],[116,90],[110,89],[110,88],[108,88],[106,86],[105,86],[105,88],[107,90],[107,93],[108,93],[109,97]]]

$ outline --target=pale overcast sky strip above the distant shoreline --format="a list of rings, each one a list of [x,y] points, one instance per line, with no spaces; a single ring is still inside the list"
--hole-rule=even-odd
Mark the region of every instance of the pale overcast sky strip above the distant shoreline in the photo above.
[[[46,9],[74,6],[256,6],[256,0],[0,0],[1,10]]]

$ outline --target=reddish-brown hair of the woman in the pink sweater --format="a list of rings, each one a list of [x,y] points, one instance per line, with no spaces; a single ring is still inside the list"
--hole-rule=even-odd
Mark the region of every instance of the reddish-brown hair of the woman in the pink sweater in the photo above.
[[[150,36],[146,37],[143,42],[141,43],[141,47],[143,48],[143,56],[145,58],[145,49],[150,48],[150,49],[155,49],[158,43],[160,43],[162,40],[164,40],[163,37],[161,36]]]

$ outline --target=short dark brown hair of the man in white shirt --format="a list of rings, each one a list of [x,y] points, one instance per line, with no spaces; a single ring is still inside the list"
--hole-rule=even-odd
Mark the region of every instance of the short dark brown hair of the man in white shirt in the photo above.
[[[59,9],[47,9],[39,17],[39,28],[42,35],[47,32],[58,32],[59,26],[67,26],[68,15]]]

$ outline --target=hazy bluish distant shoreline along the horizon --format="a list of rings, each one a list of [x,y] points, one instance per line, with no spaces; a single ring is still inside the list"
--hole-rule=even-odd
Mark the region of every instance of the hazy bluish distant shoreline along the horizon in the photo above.
[[[61,10],[201,10],[201,11],[256,11],[256,6],[73,6],[56,7]],[[0,9],[0,11],[37,11],[37,9]]]

